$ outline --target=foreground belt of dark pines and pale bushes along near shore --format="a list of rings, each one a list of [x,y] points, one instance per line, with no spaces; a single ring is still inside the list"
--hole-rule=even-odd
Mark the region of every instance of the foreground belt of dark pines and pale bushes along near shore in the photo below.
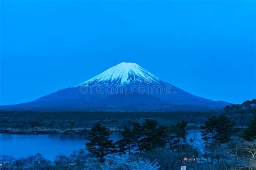
[[[113,142],[109,128],[100,122],[89,130],[86,150],[55,161],[41,154],[28,158],[1,155],[2,169],[256,169],[256,118],[240,131],[225,115],[212,116],[201,126],[204,153],[186,140],[187,122],[170,126],[152,119],[124,126],[123,138]],[[86,151],[89,151],[86,152]]]

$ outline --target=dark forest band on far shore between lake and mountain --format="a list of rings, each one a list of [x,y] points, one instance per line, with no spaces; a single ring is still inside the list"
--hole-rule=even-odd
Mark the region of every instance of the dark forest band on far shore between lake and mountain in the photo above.
[[[250,103],[251,102],[251,103]],[[249,104],[248,104],[249,103]],[[113,130],[122,130],[134,121],[144,118],[169,125],[187,121],[188,128],[198,129],[207,118],[225,114],[236,126],[244,128],[255,116],[255,100],[227,106],[222,111],[175,111],[175,112],[77,112],[77,111],[0,111],[2,133],[86,133],[91,126],[100,122]]]

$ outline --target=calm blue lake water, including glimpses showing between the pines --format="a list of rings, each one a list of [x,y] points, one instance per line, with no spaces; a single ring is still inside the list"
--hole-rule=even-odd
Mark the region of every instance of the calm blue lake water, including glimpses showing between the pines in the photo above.
[[[12,155],[16,158],[28,157],[36,153],[43,154],[44,158],[54,160],[56,155],[69,155],[72,151],[85,148],[86,134],[4,134],[0,133],[0,155]],[[122,138],[120,133],[112,133],[114,141]],[[190,130],[187,140],[201,152],[202,141],[198,130]]]

